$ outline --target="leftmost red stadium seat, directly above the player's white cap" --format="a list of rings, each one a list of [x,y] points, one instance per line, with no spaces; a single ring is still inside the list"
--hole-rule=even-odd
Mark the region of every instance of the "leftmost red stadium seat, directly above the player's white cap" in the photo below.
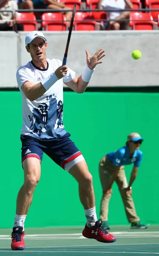
[[[24,31],[38,30],[38,22],[33,13],[18,12],[16,15],[17,23],[22,23]]]

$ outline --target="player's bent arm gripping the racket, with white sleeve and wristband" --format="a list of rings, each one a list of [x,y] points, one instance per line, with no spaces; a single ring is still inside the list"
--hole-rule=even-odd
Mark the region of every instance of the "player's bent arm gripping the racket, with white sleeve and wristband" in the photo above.
[[[25,69],[19,69],[17,70],[17,83],[18,86],[21,87],[26,98],[30,101],[34,101],[40,98],[46,90],[49,90],[49,87],[55,84],[56,81],[63,78],[66,75],[67,70],[67,66],[60,66],[55,70],[55,73],[50,74],[46,79],[35,84]]]

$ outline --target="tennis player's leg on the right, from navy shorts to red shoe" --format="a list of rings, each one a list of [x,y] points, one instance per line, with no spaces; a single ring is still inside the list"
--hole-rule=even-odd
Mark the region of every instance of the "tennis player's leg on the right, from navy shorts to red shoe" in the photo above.
[[[69,136],[70,134],[65,134],[56,142],[49,140],[50,146],[44,152],[78,181],[79,197],[87,219],[83,236],[105,243],[114,242],[116,238],[108,234],[97,219],[92,175],[84,157]]]

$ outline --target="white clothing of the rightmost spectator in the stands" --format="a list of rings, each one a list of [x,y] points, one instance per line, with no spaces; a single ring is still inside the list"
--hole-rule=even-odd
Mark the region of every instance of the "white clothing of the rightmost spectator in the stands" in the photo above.
[[[105,9],[125,9],[125,1],[124,0],[103,0],[101,5]],[[106,12],[107,19],[108,20],[114,20],[116,17],[118,17],[121,12],[115,11],[115,12]]]

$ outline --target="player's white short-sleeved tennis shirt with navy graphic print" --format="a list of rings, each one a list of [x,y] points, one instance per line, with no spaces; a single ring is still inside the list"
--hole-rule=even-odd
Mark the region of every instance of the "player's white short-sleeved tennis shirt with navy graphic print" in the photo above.
[[[66,134],[63,124],[63,82],[75,77],[75,72],[68,68],[63,79],[59,79],[43,96],[30,101],[21,90],[26,81],[38,84],[62,65],[57,59],[47,59],[47,68],[35,67],[31,61],[17,70],[17,84],[22,96],[23,126],[21,134],[36,137],[39,140],[61,137]]]

